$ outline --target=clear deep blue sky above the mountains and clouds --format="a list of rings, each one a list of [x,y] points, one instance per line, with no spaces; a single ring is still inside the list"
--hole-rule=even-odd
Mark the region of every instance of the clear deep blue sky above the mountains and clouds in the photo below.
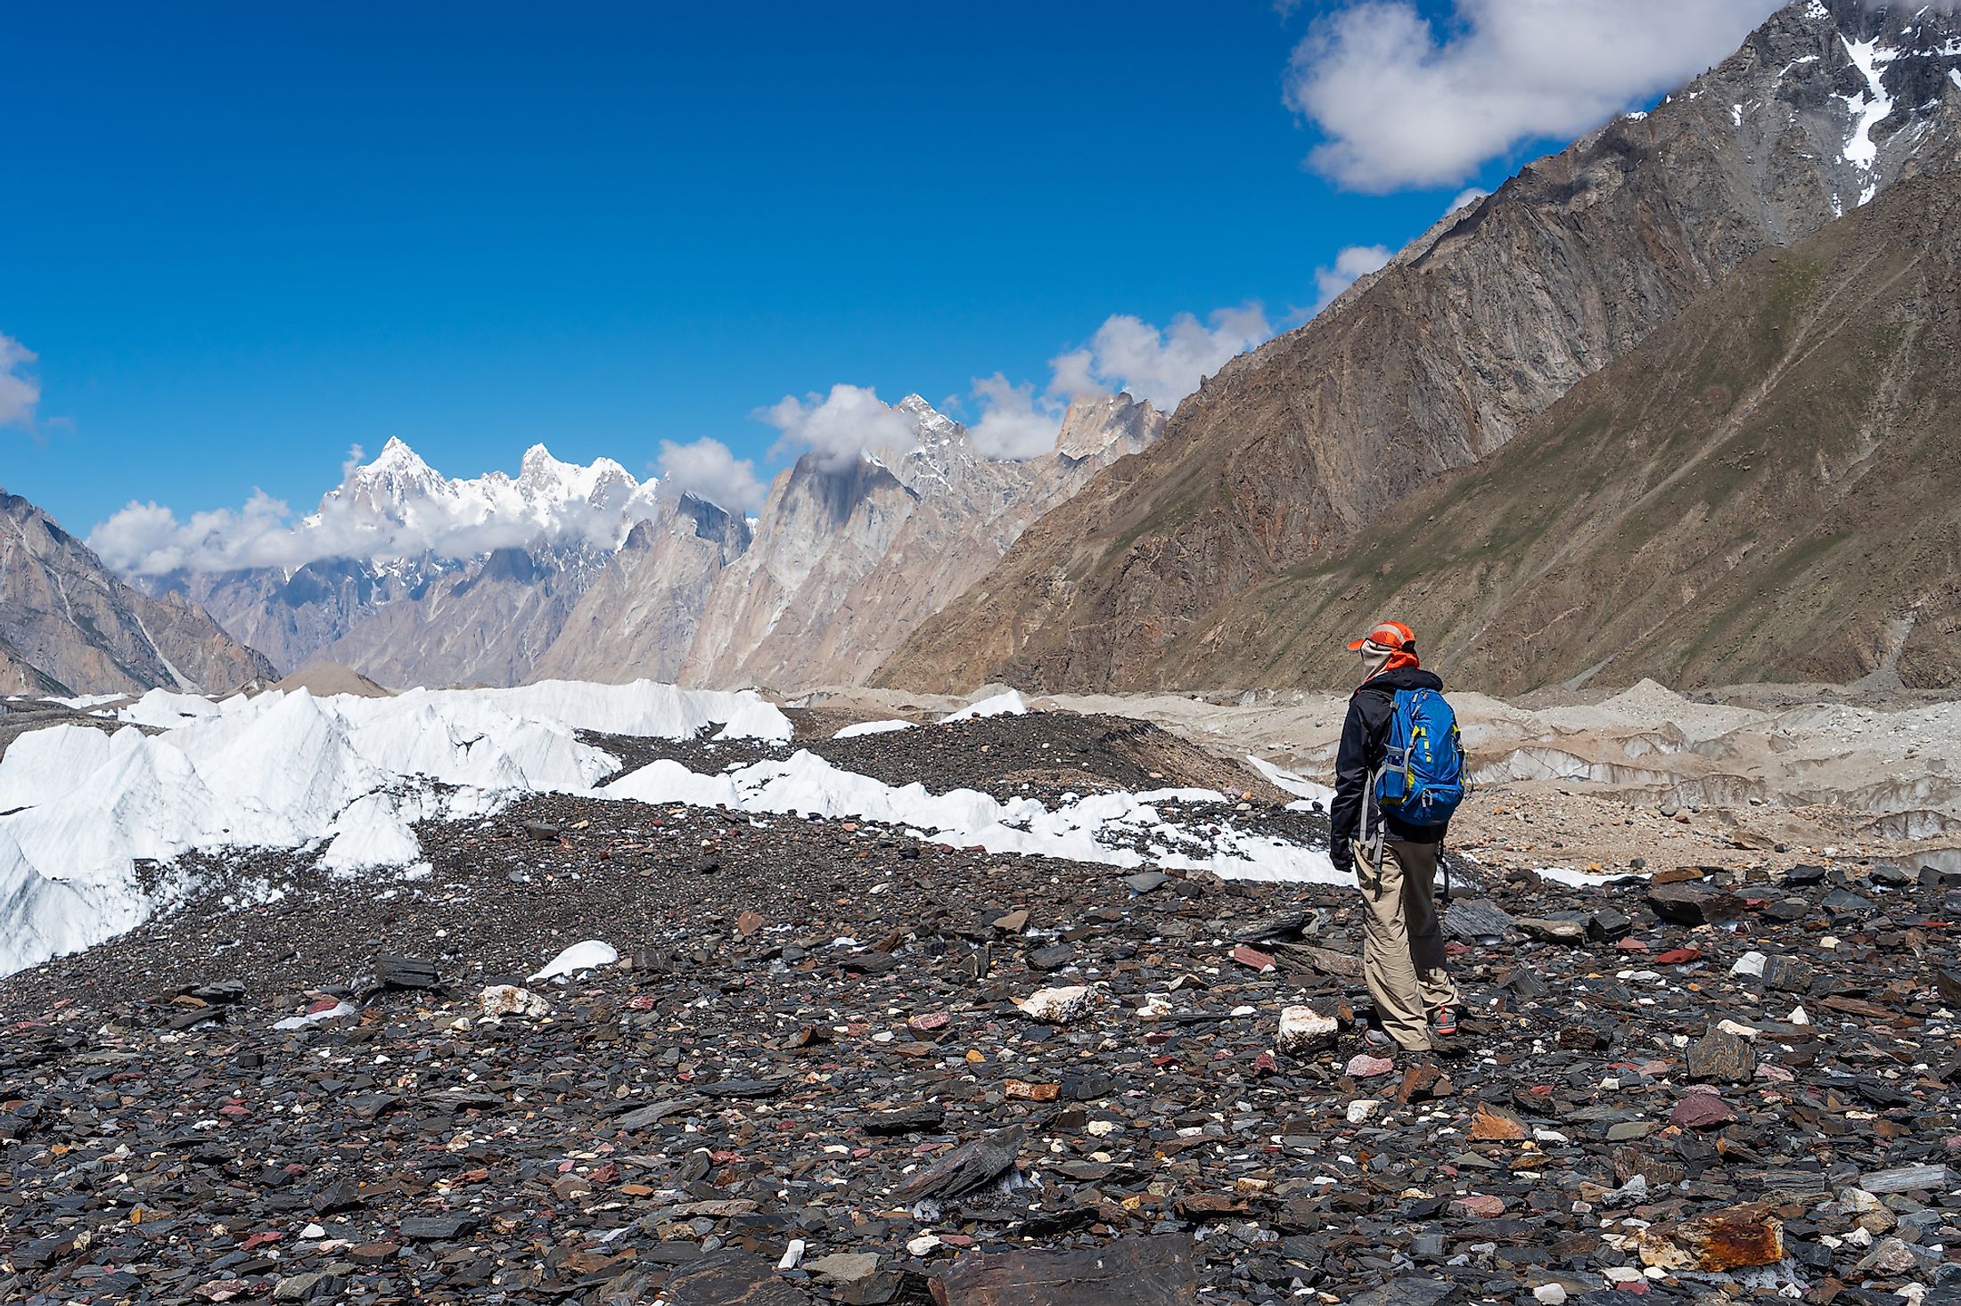
[[[0,335],[39,400],[0,484],[86,529],[304,508],[388,435],[767,473],[784,394],[1039,390],[1112,314],[1279,324],[1543,145],[1388,194],[1304,167],[1288,53],[1339,10],[20,8]]]

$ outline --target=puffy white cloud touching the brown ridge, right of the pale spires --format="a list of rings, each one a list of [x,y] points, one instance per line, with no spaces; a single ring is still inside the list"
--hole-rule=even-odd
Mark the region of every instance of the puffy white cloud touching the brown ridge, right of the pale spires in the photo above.
[[[1214,310],[1208,322],[1179,314],[1159,329],[1141,318],[1116,314],[1096,327],[1086,347],[1049,361],[1055,373],[1049,394],[1073,398],[1130,390],[1171,412],[1228,359],[1273,335],[1257,304]]]

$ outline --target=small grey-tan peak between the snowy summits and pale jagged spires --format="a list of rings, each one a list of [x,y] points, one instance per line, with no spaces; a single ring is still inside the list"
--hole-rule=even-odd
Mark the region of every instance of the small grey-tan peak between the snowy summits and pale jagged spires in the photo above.
[[[749,524],[682,494],[641,522],[580,596],[535,675],[561,680],[673,680],[722,571],[749,549]]]

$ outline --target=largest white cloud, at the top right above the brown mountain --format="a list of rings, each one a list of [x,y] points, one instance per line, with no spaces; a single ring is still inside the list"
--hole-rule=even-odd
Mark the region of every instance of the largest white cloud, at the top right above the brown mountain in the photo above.
[[[1726,59],[1781,0],[1355,0],[1294,47],[1286,104],[1353,190],[1461,184],[1537,137],[1577,137]]]

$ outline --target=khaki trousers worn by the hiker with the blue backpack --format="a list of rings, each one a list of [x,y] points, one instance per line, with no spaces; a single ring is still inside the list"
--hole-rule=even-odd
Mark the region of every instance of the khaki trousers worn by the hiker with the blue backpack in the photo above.
[[[1443,969],[1443,928],[1437,922],[1437,845],[1383,843],[1383,865],[1373,849],[1355,849],[1355,880],[1369,908],[1361,973],[1375,996],[1383,1030],[1404,1051],[1430,1051],[1430,1010],[1457,1002],[1457,986]]]

